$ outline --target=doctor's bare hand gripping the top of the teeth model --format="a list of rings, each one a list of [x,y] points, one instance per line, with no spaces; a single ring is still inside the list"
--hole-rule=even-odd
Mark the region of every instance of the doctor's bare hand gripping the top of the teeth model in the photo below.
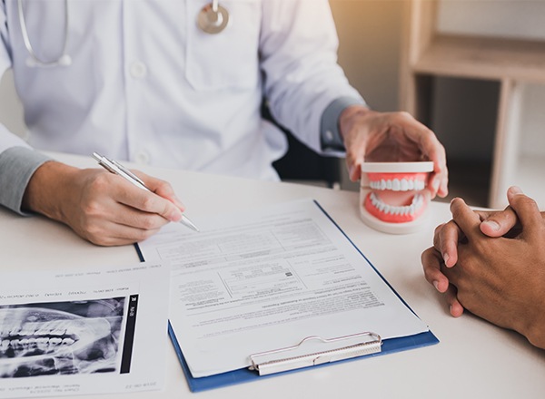
[[[433,161],[431,198],[448,194],[445,149],[437,137],[407,112],[376,112],[362,105],[344,110],[339,121],[352,181],[361,178],[363,161]]]

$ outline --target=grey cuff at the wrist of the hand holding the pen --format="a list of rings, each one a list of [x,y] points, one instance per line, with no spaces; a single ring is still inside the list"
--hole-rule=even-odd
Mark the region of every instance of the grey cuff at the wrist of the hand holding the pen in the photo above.
[[[35,170],[51,158],[25,147],[12,147],[0,153],[0,205],[20,215],[28,181]]]

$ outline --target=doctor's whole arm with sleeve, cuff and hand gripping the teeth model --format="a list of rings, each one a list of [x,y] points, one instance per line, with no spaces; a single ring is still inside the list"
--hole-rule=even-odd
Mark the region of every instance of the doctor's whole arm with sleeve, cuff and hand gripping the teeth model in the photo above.
[[[436,193],[444,197],[448,177],[441,143],[405,112],[373,112],[367,107],[337,63],[338,40],[327,2],[263,4],[270,8],[263,10],[261,65],[274,119],[314,151],[346,155],[352,180],[360,178],[364,159],[391,161],[384,151],[375,151],[379,143],[389,149],[393,144],[403,152],[394,161],[433,161],[431,197]],[[276,21],[274,15],[286,18]]]

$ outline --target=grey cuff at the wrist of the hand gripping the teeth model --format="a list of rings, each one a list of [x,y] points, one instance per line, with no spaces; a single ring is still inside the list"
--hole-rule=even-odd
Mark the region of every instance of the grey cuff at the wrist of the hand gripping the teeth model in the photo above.
[[[351,105],[365,105],[365,102],[353,97],[341,97],[329,104],[322,113],[320,125],[322,151],[344,151],[344,142],[339,130],[339,117]]]

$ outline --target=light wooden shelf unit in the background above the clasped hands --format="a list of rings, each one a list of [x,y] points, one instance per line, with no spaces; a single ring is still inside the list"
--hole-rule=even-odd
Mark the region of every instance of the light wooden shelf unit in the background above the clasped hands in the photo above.
[[[539,171],[533,171],[534,176],[545,170],[545,161],[530,162],[519,154],[522,92],[525,84],[545,83],[545,41],[440,34],[436,29],[437,0],[408,0],[405,7],[402,110],[430,123],[435,77],[500,83],[488,205],[502,208],[512,181],[522,179],[522,175],[531,176],[535,168]],[[545,189],[541,191],[545,199]]]

